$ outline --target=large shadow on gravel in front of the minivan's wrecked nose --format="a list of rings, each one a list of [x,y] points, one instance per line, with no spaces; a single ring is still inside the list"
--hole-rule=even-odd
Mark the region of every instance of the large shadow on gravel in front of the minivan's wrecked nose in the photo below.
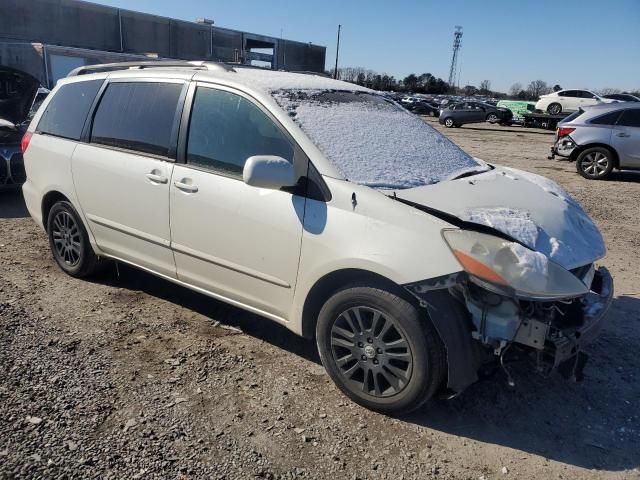
[[[640,466],[640,299],[621,296],[601,338],[587,349],[585,381],[544,378],[528,365],[498,371],[448,401],[433,402],[404,421],[587,469]]]

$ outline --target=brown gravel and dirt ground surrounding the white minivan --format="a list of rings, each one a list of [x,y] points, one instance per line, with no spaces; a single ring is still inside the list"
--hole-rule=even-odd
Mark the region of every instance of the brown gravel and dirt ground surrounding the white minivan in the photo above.
[[[640,478],[640,173],[588,182],[542,131],[445,133],[558,181],[602,229],[616,298],[584,383],[515,368],[515,389],[374,414],[267,320],[123,266],[65,276],[0,194],[0,479]]]

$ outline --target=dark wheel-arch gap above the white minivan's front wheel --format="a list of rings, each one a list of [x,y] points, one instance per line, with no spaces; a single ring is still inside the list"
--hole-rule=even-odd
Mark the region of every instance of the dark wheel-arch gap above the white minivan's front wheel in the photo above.
[[[395,283],[393,280],[370,270],[359,268],[343,268],[327,273],[319,278],[309,289],[302,307],[302,336],[312,339],[315,336],[316,323],[318,314],[324,303],[329,297],[338,290],[356,283],[362,283],[367,286],[376,286],[388,289],[393,293],[406,298],[410,302],[417,304],[404,288]]]

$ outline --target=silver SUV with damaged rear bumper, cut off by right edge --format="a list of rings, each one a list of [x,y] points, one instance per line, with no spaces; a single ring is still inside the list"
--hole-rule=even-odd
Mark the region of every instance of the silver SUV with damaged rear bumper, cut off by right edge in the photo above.
[[[576,162],[578,173],[601,180],[616,169],[640,169],[640,104],[581,108],[558,124],[555,155]]]

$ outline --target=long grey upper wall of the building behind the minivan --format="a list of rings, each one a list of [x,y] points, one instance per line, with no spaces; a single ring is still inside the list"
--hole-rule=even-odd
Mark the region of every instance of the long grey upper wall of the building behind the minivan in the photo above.
[[[78,0],[0,0],[0,39],[5,42],[17,40],[122,53],[156,53],[165,58],[233,61],[236,50],[243,55],[245,35],[269,39],[277,46],[274,68],[324,71],[326,49],[316,45]]]

